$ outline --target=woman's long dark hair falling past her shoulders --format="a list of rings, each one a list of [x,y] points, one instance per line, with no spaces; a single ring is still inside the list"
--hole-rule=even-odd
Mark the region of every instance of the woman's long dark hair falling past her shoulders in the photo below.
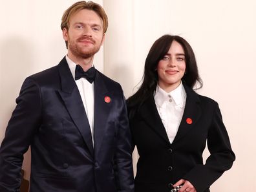
[[[158,73],[156,70],[158,62],[167,54],[173,41],[180,43],[185,53],[186,74],[184,74],[182,78],[182,83],[193,89],[198,82],[199,87],[197,89],[202,87],[202,80],[198,74],[195,54],[189,43],[180,36],[164,35],[155,41],[149,50],[149,54],[147,54],[142,85],[140,89],[127,100],[130,109],[138,109],[155,91],[158,83]]]

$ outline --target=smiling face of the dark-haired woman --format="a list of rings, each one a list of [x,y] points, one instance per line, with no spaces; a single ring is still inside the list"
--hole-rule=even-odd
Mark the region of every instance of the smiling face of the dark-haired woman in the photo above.
[[[167,54],[158,62],[158,85],[165,92],[173,91],[180,85],[185,70],[186,61],[184,50],[180,43],[173,41]]]

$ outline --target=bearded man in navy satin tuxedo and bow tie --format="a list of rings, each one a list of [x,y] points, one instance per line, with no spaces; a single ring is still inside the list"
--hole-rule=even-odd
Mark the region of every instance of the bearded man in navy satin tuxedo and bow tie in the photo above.
[[[21,87],[0,149],[1,192],[19,191],[29,146],[32,192],[134,191],[122,88],[92,67],[107,25],[103,8],[91,1],[63,14],[67,56]]]

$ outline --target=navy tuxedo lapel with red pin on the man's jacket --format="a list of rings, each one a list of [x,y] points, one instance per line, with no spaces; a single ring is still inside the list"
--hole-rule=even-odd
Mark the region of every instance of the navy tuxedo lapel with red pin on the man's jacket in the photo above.
[[[111,101],[107,103],[105,97],[109,96]],[[107,90],[102,74],[97,71],[94,81],[94,155],[100,151],[103,137],[107,129],[109,112],[112,105],[112,94]],[[112,125],[114,126],[114,125]]]

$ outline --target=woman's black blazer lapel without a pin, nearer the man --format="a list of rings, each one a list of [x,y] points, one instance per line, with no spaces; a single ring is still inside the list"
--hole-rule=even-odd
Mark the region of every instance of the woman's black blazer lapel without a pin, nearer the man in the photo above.
[[[142,116],[142,118],[147,123],[147,125],[149,125],[149,127],[154,129],[159,136],[164,138],[166,142],[170,143],[167,133],[165,131],[164,124],[162,123],[162,120],[156,109],[156,104],[155,104],[153,94],[149,96],[149,98],[145,101],[145,103],[140,108],[140,116]]]

